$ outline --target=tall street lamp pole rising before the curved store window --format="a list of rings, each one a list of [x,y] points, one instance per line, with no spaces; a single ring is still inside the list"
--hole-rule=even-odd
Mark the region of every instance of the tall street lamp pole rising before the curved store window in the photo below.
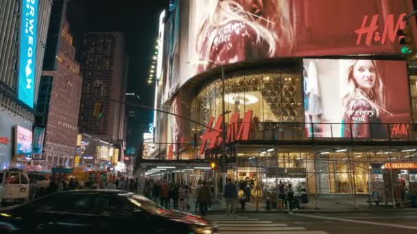
[[[214,61],[204,58],[205,60],[197,61],[198,64],[213,64],[215,66],[220,66],[222,68],[222,157],[220,161],[220,172],[222,172],[222,191],[224,192],[224,186],[226,185],[226,174],[227,174],[227,161],[226,161],[226,110],[224,102],[224,65],[216,64]],[[190,62],[188,62],[190,63]],[[237,167],[237,165],[236,165]]]

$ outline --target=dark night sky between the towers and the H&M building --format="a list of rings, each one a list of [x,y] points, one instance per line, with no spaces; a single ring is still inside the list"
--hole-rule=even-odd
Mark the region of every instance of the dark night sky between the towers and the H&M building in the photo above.
[[[135,92],[141,104],[154,105],[154,86],[147,84],[152,54],[158,36],[159,14],[167,0],[72,0],[69,21],[75,46],[87,31],[122,31],[130,55],[126,92]],[[140,119],[152,122],[153,112],[141,109]]]

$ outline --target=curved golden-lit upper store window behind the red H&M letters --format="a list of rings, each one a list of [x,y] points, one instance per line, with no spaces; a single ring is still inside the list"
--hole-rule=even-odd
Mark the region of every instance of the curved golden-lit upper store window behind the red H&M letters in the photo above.
[[[290,73],[266,73],[226,79],[226,123],[234,113],[253,111],[252,130],[263,130],[262,122],[302,122],[300,77]],[[206,86],[197,96],[201,107],[198,121],[208,122],[222,114],[222,81]]]

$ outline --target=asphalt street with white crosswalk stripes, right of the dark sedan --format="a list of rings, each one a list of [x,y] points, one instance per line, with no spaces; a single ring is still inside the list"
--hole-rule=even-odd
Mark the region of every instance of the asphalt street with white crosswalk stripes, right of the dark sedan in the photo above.
[[[417,212],[375,213],[239,213],[236,218],[210,213],[220,233],[344,234],[416,233]]]

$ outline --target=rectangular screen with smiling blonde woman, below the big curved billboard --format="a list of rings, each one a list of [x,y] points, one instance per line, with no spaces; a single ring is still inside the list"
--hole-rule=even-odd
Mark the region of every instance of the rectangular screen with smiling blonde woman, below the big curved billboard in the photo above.
[[[304,61],[308,136],[396,138],[411,122],[404,61]],[[390,124],[390,125],[388,125]]]

